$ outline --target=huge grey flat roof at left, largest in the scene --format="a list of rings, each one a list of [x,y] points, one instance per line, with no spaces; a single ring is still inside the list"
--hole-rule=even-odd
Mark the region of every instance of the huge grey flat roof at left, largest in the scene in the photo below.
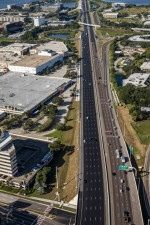
[[[70,79],[8,72],[0,76],[0,107],[27,111],[48,98]]]

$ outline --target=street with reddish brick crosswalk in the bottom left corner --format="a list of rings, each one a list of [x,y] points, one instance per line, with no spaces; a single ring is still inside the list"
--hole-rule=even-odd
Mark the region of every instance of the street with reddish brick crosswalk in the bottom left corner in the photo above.
[[[4,193],[0,193],[0,200],[6,204],[10,204],[0,204],[0,216],[6,218],[8,215],[8,218],[15,221],[16,224],[24,225],[39,225],[38,221],[40,221],[40,217],[45,214],[44,212],[49,206]],[[62,209],[52,207],[48,211],[48,216],[53,219],[50,220],[50,218],[44,217],[43,225],[65,225],[69,223],[73,225],[75,223],[75,214]]]

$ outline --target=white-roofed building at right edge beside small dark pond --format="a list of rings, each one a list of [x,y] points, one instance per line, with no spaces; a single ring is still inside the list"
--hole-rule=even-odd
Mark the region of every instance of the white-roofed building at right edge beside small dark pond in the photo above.
[[[133,73],[123,80],[123,86],[133,84],[134,86],[147,87],[146,83],[150,77],[148,73]]]

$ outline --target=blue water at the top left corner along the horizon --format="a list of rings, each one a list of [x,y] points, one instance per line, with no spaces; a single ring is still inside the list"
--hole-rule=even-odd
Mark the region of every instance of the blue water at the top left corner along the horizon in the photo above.
[[[0,9],[7,8],[9,4],[23,5],[26,3],[36,2],[36,0],[0,0]]]

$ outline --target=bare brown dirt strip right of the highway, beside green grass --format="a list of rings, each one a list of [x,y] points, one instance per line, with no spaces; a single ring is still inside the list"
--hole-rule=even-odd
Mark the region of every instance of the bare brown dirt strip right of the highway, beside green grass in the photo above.
[[[129,146],[133,147],[134,157],[138,166],[144,165],[146,145],[141,144],[139,137],[133,129],[132,120],[128,108],[118,107],[118,119],[125,141]],[[138,159],[138,155],[140,158]]]

